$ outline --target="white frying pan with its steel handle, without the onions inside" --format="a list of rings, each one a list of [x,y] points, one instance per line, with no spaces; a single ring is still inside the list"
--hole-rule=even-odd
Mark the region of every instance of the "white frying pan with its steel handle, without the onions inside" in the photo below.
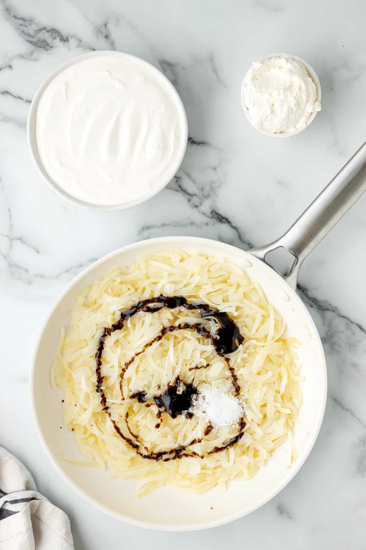
[[[104,256],[83,271],[67,287],[50,312],[36,346],[30,376],[33,417],[42,444],[59,474],[95,507],[133,525],[166,531],[206,529],[238,519],[275,496],[299,471],[317,438],[326,399],[326,367],[317,329],[295,293],[302,261],[366,190],[366,144],[351,158],[294,225],[277,241],[244,252],[209,239],[164,237],[125,246]],[[294,256],[290,273],[281,277],[266,262],[269,251],[284,247]],[[233,481],[227,492],[217,488],[192,496],[188,489],[161,487],[137,498],[135,480],[109,480],[106,472],[67,463],[63,455],[82,458],[74,436],[60,430],[61,390],[49,383],[50,356],[54,353],[61,324],[67,324],[76,293],[120,265],[130,265],[140,254],[178,247],[187,251],[224,256],[242,266],[263,287],[268,300],[283,316],[287,334],[301,340],[300,360],[306,382],[302,384],[301,425],[295,428],[297,459],[290,466],[286,444],[250,481]]]

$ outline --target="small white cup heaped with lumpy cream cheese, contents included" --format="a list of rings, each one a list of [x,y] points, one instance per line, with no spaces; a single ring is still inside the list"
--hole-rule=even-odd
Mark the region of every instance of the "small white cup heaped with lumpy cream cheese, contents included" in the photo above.
[[[289,138],[308,127],[320,111],[314,69],[300,57],[276,53],[254,62],[241,88],[249,122],[263,134]]]

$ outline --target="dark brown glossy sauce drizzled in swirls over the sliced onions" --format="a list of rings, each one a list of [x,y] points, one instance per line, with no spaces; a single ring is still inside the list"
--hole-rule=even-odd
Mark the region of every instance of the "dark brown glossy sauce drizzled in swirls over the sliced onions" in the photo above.
[[[122,398],[123,398],[123,392],[122,392],[123,376],[125,375],[125,372],[129,367],[129,365],[133,363],[136,357],[144,353],[144,351],[147,350],[151,345],[153,345],[154,342],[159,342],[165,336],[165,334],[173,331],[183,330],[183,329],[195,330],[204,338],[210,339],[211,344],[216,349],[216,353],[222,356],[227,363],[228,370],[232,377],[232,382],[233,382],[233,386],[236,394],[240,392],[238,377],[235,374],[234,367],[230,365],[229,358],[226,357],[226,354],[233,353],[234,351],[236,351],[239,348],[239,345],[244,341],[244,337],[240,334],[239,327],[237,326],[237,324],[232,320],[232,318],[228,316],[226,312],[218,311],[216,309],[211,309],[208,304],[199,304],[199,303],[189,304],[187,301],[187,298],[184,298],[184,296],[164,296],[162,294],[160,296],[157,296],[156,298],[141,300],[139,301],[138,304],[132,305],[125,311],[121,311],[119,320],[116,321],[114,324],[112,324],[110,328],[105,327],[103,329],[103,333],[99,338],[99,342],[98,342],[99,345],[97,348],[97,352],[95,353],[95,361],[97,363],[97,367],[95,369],[95,374],[97,375],[97,385],[95,390],[97,393],[100,394],[100,403],[103,406],[102,410],[107,412],[115,431],[130,447],[136,450],[136,453],[142,456],[142,458],[149,459],[149,460],[156,460],[156,461],[180,459],[180,458],[183,458],[183,456],[198,456],[199,458],[204,458],[204,456],[199,455],[192,449],[189,453],[186,452],[188,447],[201,442],[201,439],[197,439],[197,438],[193,439],[193,441],[191,441],[188,445],[181,445],[178,448],[173,448],[160,453],[149,452],[149,449],[144,447],[144,445],[139,442],[137,434],[131,431],[128,423],[128,412],[126,412],[126,415],[125,415],[125,422],[126,422],[128,432],[132,436],[132,439],[130,437],[125,436],[125,434],[122,433],[116,421],[111,418],[111,415],[108,412],[109,407],[108,405],[106,405],[106,397],[102,389],[104,377],[102,376],[102,373],[101,373],[102,355],[103,355],[106,338],[111,333],[115,331],[120,331],[123,328],[125,321],[127,321],[130,317],[133,317],[134,315],[136,315],[136,313],[138,313],[139,311],[154,313],[154,312],[160,311],[163,307],[168,307],[169,309],[174,309],[176,307],[184,307],[187,310],[199,310],[201,318],[213,318],[218,323],[218,329],[215,333],[215,336],[213,337],[211,335],[211,332],[208,331],[206,327],[204,327],[201,323],[196,323],[196,324],[181,323],[181,324],[178,324],[177,326],[168,326],[168,327],[162,328],[160,333],[153,340],[150,340],[150,342],[145,344],[142,350],[134,354],[131,357],[131,359],[127,361],[124,367],[122,368],[122,371],[120,374],[120,377],[121,377],[120,388],[121,388]],[[205,365],[205,367],[207,366],[209,365]],[[204,368],[204,366],[191,367],[189,370],[192,371],[199,368]],[[197,389],[194,386],[192,386],[192,384],[184,384],[184,388],[182,392],[177,393],[179,384],[181,384],[181,381],[179,380],[179,377],[178,377],[174,382],[174,384],[169,385],[167,390],[164,393],[162,393],[157,397],[154,397],[155,404],[159,408],[156,414],[156,417],[158,420],[161,419],[161,409],[164,409],[164,412],[167,412],[168,414],[170,414],[172,418],[176,418],[178,414],[185,414],[187,418],[193,417],[193,414],[191,412],[188,412],[188,409],[192,404],[193,395],[197,393]],[[130,396],[130,399],[137,399],[139,403],[145,403],[146,395],[147,394],[142,391],[135,392]],[[151,406],[151,404],[145,403],[145,406]],[[161,425],[161,422],[162,420],[160,420],[160,422],[155,425],[155,428],[158,428]],[[230,439],[230,441],[225,445],[223,445],[222,447],[213,448],[208,454],[218,453],[223,451],[224,449],[232,447],[235,443],[237,443],[241,439],[241,437],[243,437],[243,430],[245,428],[245,425],[246,423],[244,419],[241,418],[239,421],[239,433],[237,434],[237,436]],[[204,432],[205,436],[211,433],[212,430],[213,430],[213,427],[211,424],[209,424],[206,427],[206,430]],[[142,448],[144,449],[145,453],[142,452],[141,450]]]

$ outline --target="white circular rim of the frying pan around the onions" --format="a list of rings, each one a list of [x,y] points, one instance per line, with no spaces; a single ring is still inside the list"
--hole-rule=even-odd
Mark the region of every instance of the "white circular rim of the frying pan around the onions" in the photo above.
[[[212,239],[206,239],[201,237],[184,237],[184,236],[168,236],[168,237],[157,237],[153,239],[145,239],[142,241],[137,241],[135,243],[122,246],[121,248],[111,251],[108,254],[102,256],[99,260],[91,263],[88,267],[86,267],[81,273],[79,273],[75,278],[73,278],[69,284],[67,284],[66,288],[63,290],[63,292],[59,295],[57,300],[55,300],[53,306],[48,312],[48,315],[46,316],[44,322],[42,323],[40,332],[38,333],[38,337],[36,339],[35,348],[33,350],[32,360],[31,360],[31,366],[30,366],[30,377],[29,377],[29,392],[30,392],[30,405],[31,405],[31,411],[32,411],[32,417],[33,422],[36,427],[36,432],[38,437],[40,438],[40,441],[43,446],[43,450],[48,456],[50,462],[53,464],[55,469],[57,470],[58,474],[61,476],[61,478],[66,481],[74,491],[81,496],[83,499],[85,499],[89,504],[92,504],[95,508],[97,508],[100,511],[103,511],[105,514],[118,519],[120,521],[124,521],[128,523],[129,525],[134,525],[136,527],[144,527],[145,529],[151,529],[151,530],[157,530],[157,531],[171,531],[171,532],[186,532],[186,531],[200,531],[204,529],[211,529],[212,527],[218,527],[220,525],[225,525],[231,521],[235,521],[237,519],[243,518],[244,516],[250,514],[252,511],[257,510],[258,508],[261,508],[262,505],[266,504],[271,500],[273,497],[275,497],[282,489],[288,485],[288,483],[294,478],[294,476],[299,472],[302,465],[305,463],[306,459],[308,458],[314,443],[316,442],[316,439],[318,437],[320,427],[322,426],[323,418],[324,418],[324,412],[325,412],[325,405],[326,405],[326,395],[327,395],[327,375],[326,375],[326,361],[325,361],[325,355],[324,355],[324,348],[322,345],[322,342],[320,340],[320,336],[318,333],[318,330],[315,326],[314,321],[312,320],[312,317],[310,313],[308,312],[305,304],[301,300],[299,296],[297,296],[296,292],[292,290],[290,285],[288,285],[285,281],[284,284],[286,285],[286,292],[289,293],[292,297],[295,297],[297,303],[301,307],[302,311],[304,312],[304,315],[307,318],[307,322],[310,326],[314,329],[314,335],[317,339],[317,346],[320,351],[320,357],[321,357],[321,365],[319,365],[320,372],[322,373],[322,383],[323,383],[323,399],[322,403],[320,403],[321,407],[319,409],[319,417],[318,417],[318,423],[316,426],[314,426],[314,432],[312,433],[312,437],[308,442],[307,449],[302,454],[301,457],[298,457],[296,464],[294,464],[291,469],[289,470],[289,474],[287,476],[284,476],[283,481],[279,483],[277,487],[275,487],[271,492],[267,493],[264,497],[262,497],[258,502],[256,502],[254,505],[252,505],[249,509],[243,511],[238,510],[235,513],[229,514],[227,516],[224,516],[222,519],[215,519],[215,520],[209,520],[209,521],[201,521],[199,524],[187,524],[187,525],[166,525],[166,524],[159,524],[157,522],[149,522],[144,520],[136,520],[134,518],[131,518],[129,516],[126,516],[122,513],[116,513],[114,510],[111,510],[110,508],[106,507],[104,504],[101,504],[98,502],[97,499],[94,497],[89,496],[89,494],[84,491],[80,486],[75,483],[72,478],[66,474],[66,472],[61,468],[61,466],[58,464],[57,460],[54,458],[54,455],[52,451],[49,448],[49,445],[46,441],[46,438],[43,436],[42,428],[40,421],[38,420],[38,414],[37,414],[37,408],[36,408],[36,399],[35,399],[35,373],[36,373],[36,365],[37,365],[37,355],[38,355],[38,349],[40,348],[40,344],[42,342],[43,333],[47,328],[47,325],[52,318],[55,310],[57,307],[61,304],[61,302],[64,300],[67,293],[70,292],[71,288],[74,287],[83,277],[85,277],[89,272],[93,271],[96,267],[103,265],[103,263],[108,262],[109,260],[113,259],[115,256],[118,256],[122,254],[123,252],[126,252],[130,249],[139,249],[143,248],[143,246],[149,242],[151,245],[167,245],[171,240],[174,240],[174,243],[180,244],[182,243],[182,246],[184,246],[183,243],[187,242],[187,239],[190,243],[193,245],[195,243],[197,244],[206,244],[207,246],[223,246],[225,250],[228,251],[228,253],[231,251],[233,254],[238,255],[240,252],[240,255],[243,256],[246,259],[246,256],[248,256],[248,260],[252,263],[260,262],[264,270],[268,271],[272,277],[279,277],[281,276],[275,272],[271,267],[266,265],[261,260],[256,259],[256,257],[249,254],[249,252],[246,252],[244,250],[238,249],[236,246],[229,245],[227,243],[219,243],[218,241],[212,240]],[[239,255],[238,255],[239,257]],[[288,288],[287,288],[288,287]]]

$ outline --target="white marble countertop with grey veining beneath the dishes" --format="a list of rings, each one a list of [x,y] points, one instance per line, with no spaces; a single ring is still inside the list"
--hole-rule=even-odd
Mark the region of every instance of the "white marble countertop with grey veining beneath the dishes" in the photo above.
[[[35,338],[66,284],[106,252],[162,235],[247,249],[277,238],[365,139],[366,3],[358,0],[2,0],[0,3],[0,442],[69,514],[76,550],[161,547],[349,548],[366,545],[366,196],[305,261],[299,293],[322,337],[328,400],[301,471],[271,502],[209,531],[159,533],[109,518],[53,469],[35,432],[28,378]],[[176,86],[189,142],[167,189],[132,210],[98,213],[61,199],[30,158],[26,118],[38,85],[70,57],[120,50]],[[293,139],[247,122],[254,59],[306,59],[323,109]]]

